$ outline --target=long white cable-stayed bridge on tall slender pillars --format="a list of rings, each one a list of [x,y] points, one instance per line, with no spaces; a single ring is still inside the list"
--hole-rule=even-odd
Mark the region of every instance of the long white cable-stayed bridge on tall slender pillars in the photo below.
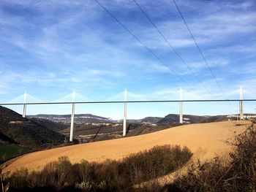
[[[148,100],[145,96],[142,96],[137,93],[130,93],[127,89],[124,89],[121,93],[116,93],[113,96],[110,96],[104,101],[94,101],[89,99],[89,97],[83,96],[82,94],[76,92],[75,90],[72,93],[68,93],[65,96],[62,96],[59,99],[53,101],[42,101],[37,97],[31,96],[29,93],[21,94],[20,96],[15,97],[10,101],[0,103],[1,106],[13,106],[13,105],[22,105],[23,106],[23,118],[26,118],[26,107],[27,105],[48,105],[48,104],[71,104],[71,123],[70,123],[70,142],[73,139],[73,128],[74,128],[74,118],[75,118],[75,105],[76,104],[124,104],[124,113],[123,113],[123,136],[127,132],[127,104],[132,103],[178,103],[179,104],[179,123],[183,123],[183,107],[186,102],[230,102],[237,101],[239,103],[239,118],[240,120],[244,119],[244,101],[256,101],[256,99],[243,99],[242,89],[239,89],[240,95],[239,99],[183,99],[183,90],[180,88],[178,91],[179,99],[177,100]],[[129,99],[128,99],[129,98]],[[237,114],[234,112],[233,114]]]

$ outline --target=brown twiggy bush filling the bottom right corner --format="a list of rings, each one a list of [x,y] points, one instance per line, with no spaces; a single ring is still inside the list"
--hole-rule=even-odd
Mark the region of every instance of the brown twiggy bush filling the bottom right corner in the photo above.
[[[230,161],[220,158],[203,164],[198,161],[189,172],[178,177],[168,191],[256,191],[256,127],[252,123],[239,134]]]

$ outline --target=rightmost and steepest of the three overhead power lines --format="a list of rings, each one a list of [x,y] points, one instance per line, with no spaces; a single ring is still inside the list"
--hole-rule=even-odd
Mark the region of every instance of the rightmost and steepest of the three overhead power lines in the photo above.
[[[216,76],[214,75],[214,72],[211,70],[211,67],[209,66],[208,62],[206,61],[206,57],[203,55],[202,50],[200,49],[199,45],[197,44],[197,41],[195,40],[194,35],[192,34],[192,31],[190,30],[186,20],[184,19],[184,16],[181,13],[181,10],[178,8],[178,5],[176,4],[176,1],[173,0],[173,3],[175,4],[176,8],[178,9],[179,15],[181,15],[181,18],[185,24],[185,26],[187,27],[187,30],[189,31],[190,36],[192,37],[193,41],[195,42],[195,45],[197,46],[197,50],[199,51],[200,55],[203,58],[203,61],[205,62],[206,66],[208,67],[209,71],[211,72],[212,77],[214,77],[215,82],[217,83],[219,90],[222,91],[223,96],[225,97],[225,99],[227,99],[227,96],[225,95],[224,91],[222,90],[222,87],[219,85],[219,82],[217,81]]]

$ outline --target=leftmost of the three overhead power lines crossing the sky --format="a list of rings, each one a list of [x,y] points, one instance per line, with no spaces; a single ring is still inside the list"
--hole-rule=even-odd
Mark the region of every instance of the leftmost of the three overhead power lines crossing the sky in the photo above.
[[[184,78],[182,78],[179,74],[177,74],[175,71],[173,71],[172,69],[170,69],[170,66],[168,66],[167,64],[165,64],[165,61],[162,61],[161,58],[159,58],[159,56],[157,56],[151,49],[149,49],[143,42],[140,41],[140,39],[138,39],[138,37],[135,36],[135,34],[132,33],[132,31],[130,31],[126,26],[124,26],[123,23],[121,23],[120,20],[118,20],[118,18],[116,18],[115,15],[113,15],[110,11],[108,11],[108,9],[106,7],[104,7],[98,0],[94,0],[97,2],[97,4],[99,4],[100,7],[102,7],[102,9],[105,10],[105,12],[108,12],[108,14],[114,19],[116,20],[117,23],[119,23],[120,26],[122,26],[130,35],[132,35],[133,38],[135,38],[138,42],[140,42],[140,45],[142,45],[144,48],[146,48],[146,50],[148,50],[149,53],[151,53],[152,55],[154,55],[155,58],[157,58],[157,60],[165,65],[167,67],[168,70],[170,70],[170,72],[172,72],[173,74],[176,74],[176,76],[182,81],[184,82],[186,85],[188,85],[189,87],[192,87],[192,85],[189,85]],[[195,90],[195,88],[192,88],[193,91],[195,91],[195,93],[197,93],[197,91]],[[201,96],[199,93],[197,93],[199,96]],[[203,96],[201,96],[203,98]]]

